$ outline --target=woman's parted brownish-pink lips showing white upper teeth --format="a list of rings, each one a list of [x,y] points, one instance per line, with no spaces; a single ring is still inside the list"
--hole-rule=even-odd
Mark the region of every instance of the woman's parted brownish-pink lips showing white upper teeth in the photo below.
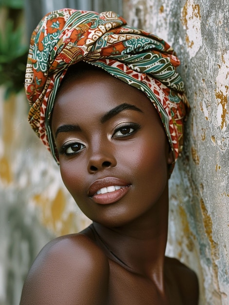
[[[120,200],[130,189],[130,183],[119,178],[106,177],[91,184],[88,196],[99,204],[110,204]]]

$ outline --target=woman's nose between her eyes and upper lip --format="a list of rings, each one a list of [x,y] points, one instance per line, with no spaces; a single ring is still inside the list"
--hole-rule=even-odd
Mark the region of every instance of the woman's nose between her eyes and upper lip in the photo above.
[[[99,172],[109,167],[115,167],[116,165],[116,158],[108,145],[106,145],[106,147],[99,147],[97,150],[92,150],[90,152],[88,160],[89,173]]]

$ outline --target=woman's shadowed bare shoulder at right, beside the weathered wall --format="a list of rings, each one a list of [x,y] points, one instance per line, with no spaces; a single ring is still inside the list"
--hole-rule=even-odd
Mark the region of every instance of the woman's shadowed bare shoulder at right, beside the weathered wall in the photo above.
[[[166,257],[166,266],[171,270],[186,305],[198,305],[199,285],[195,272],[176,258]]]

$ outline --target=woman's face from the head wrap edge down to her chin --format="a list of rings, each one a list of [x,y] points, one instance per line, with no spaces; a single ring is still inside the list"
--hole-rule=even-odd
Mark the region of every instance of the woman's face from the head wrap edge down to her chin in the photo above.
[[[91,220],[121,226],[167,200],[172,152],[140,90],[104,71],[68,79],[56,97],[52,131],[64,184]]]

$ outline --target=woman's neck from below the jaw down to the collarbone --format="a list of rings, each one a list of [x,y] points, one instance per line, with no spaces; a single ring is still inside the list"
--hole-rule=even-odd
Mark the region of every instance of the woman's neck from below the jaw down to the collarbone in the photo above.
[[[168,201],[122,227],[107,228],[93,223],[91,229],[109,258],[130,272],[149,278],[159,290],[164,289]]]

